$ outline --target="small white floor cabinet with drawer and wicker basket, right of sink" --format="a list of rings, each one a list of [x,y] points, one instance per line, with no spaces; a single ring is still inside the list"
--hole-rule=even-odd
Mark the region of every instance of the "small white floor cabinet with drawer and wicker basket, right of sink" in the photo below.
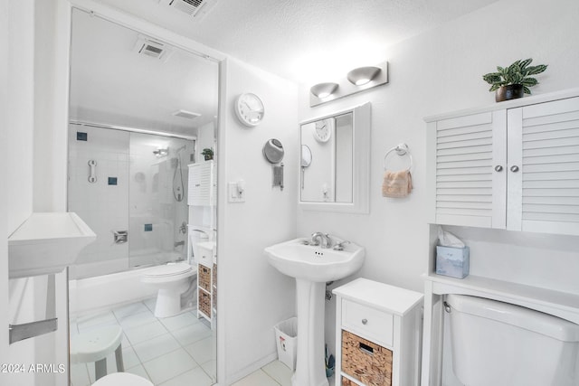
[[[336,386],[413,386],[422,294],[357,278],[337,295]]]

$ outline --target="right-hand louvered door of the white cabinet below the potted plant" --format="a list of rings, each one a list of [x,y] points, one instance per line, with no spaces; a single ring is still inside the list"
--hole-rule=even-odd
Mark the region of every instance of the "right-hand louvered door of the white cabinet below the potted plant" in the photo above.
[[[579,234],[579,98],[508,110],[507,228]]]

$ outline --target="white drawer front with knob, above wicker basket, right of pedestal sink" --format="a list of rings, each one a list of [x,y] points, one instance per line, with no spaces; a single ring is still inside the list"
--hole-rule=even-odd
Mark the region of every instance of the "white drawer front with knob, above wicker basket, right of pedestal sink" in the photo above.
[[[394,316],[385,311],[343,299],[342,325],[381,344],[393,345]]]

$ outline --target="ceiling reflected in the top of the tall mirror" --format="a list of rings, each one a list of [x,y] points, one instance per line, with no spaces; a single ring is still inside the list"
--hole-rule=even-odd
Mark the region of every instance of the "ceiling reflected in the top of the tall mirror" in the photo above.
[[[191,134],[217,116],[218,66],[169,48],[163,59],[136,52],[141,35],[82,11],[72,14],[73,120]],[[201,114],[189,119],[179,109]]]

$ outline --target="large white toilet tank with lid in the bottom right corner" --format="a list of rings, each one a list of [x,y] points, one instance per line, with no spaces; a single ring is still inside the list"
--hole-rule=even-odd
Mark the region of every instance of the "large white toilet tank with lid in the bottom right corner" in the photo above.
[[[522,306],[447,295],[452,369],[468,386],[579,385],[579,325]]]

